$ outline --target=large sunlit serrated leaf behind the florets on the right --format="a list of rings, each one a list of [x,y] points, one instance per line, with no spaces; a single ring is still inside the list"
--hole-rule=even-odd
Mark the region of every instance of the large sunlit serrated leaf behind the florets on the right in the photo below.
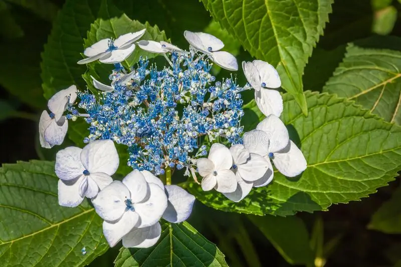
[[[275,171],[269,186],[253,188],[238,203],[215,190],[203,192],[195,183],[189,184],[189,191],[216,209],[285,216],[359,200],[393,180],[400,167],[401,127],[384,122],[352,101],[328,94],[305,95],[308,117],[289,94],[283,96],[281,116],[291,140],[308,162],[300,176],[287,178]],[[247,107],[242,121],[247,130],[255,129],[263,115],[254,101]]]

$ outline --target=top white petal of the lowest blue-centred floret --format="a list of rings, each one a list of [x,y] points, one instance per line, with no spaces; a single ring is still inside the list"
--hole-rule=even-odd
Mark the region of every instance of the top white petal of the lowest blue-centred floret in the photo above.
[[[131,193],[133,203],[142,201],[149,192],[148,183],[139,170],[133,170],[128,173],[122,180],[122,183],[125,184]]]

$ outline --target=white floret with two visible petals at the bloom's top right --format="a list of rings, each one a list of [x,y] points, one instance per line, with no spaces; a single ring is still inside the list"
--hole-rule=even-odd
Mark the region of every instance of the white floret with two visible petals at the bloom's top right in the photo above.
[[[184,37],[193,49],[205,53],[220,67],[230,71],[238,71],[237,59],[226,51],[219,51],[224,47],[219,38],[206,33],[189,31],[184,32]]]

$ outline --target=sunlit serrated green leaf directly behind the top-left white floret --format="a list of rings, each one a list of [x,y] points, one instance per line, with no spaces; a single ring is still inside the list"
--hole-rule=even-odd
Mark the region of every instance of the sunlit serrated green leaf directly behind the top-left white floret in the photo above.
[[[132,21],[125,14],[118,18],[111,18],[109,20],[98,19],[92,25],[88,32],[88,38],[85,40],[85,47],[90,47],[94,43],[105,39],[114,38],[116,39],[120,35],[126,33],[137,32],[142,29],[146,29],[145,34],[141,39],[153,40],[153,41],[168,41],[164,32],[160,32],[157,26],[151,27],[148,23],[144,25],[138,21]],[[127,67],[131,67],[138,62],[139,57],[153,58],[159,54],[153,54],[146,52],[136,47],[134,52],[124,61]],[[96,64],[92,63],[91,65]]]

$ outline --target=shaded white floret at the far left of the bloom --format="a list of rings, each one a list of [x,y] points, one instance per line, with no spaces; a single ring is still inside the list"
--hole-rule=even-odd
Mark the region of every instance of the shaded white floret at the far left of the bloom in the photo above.
[[[39,140],[44,148],[52,148],[54,145],[61,145],[68,129],[68,120],[63,116],[68,103],[73,104],[77,99],[77,87],[70,86],[67,89],[57,92],[49,99],[48,107],[42,112],[39,121]]]

